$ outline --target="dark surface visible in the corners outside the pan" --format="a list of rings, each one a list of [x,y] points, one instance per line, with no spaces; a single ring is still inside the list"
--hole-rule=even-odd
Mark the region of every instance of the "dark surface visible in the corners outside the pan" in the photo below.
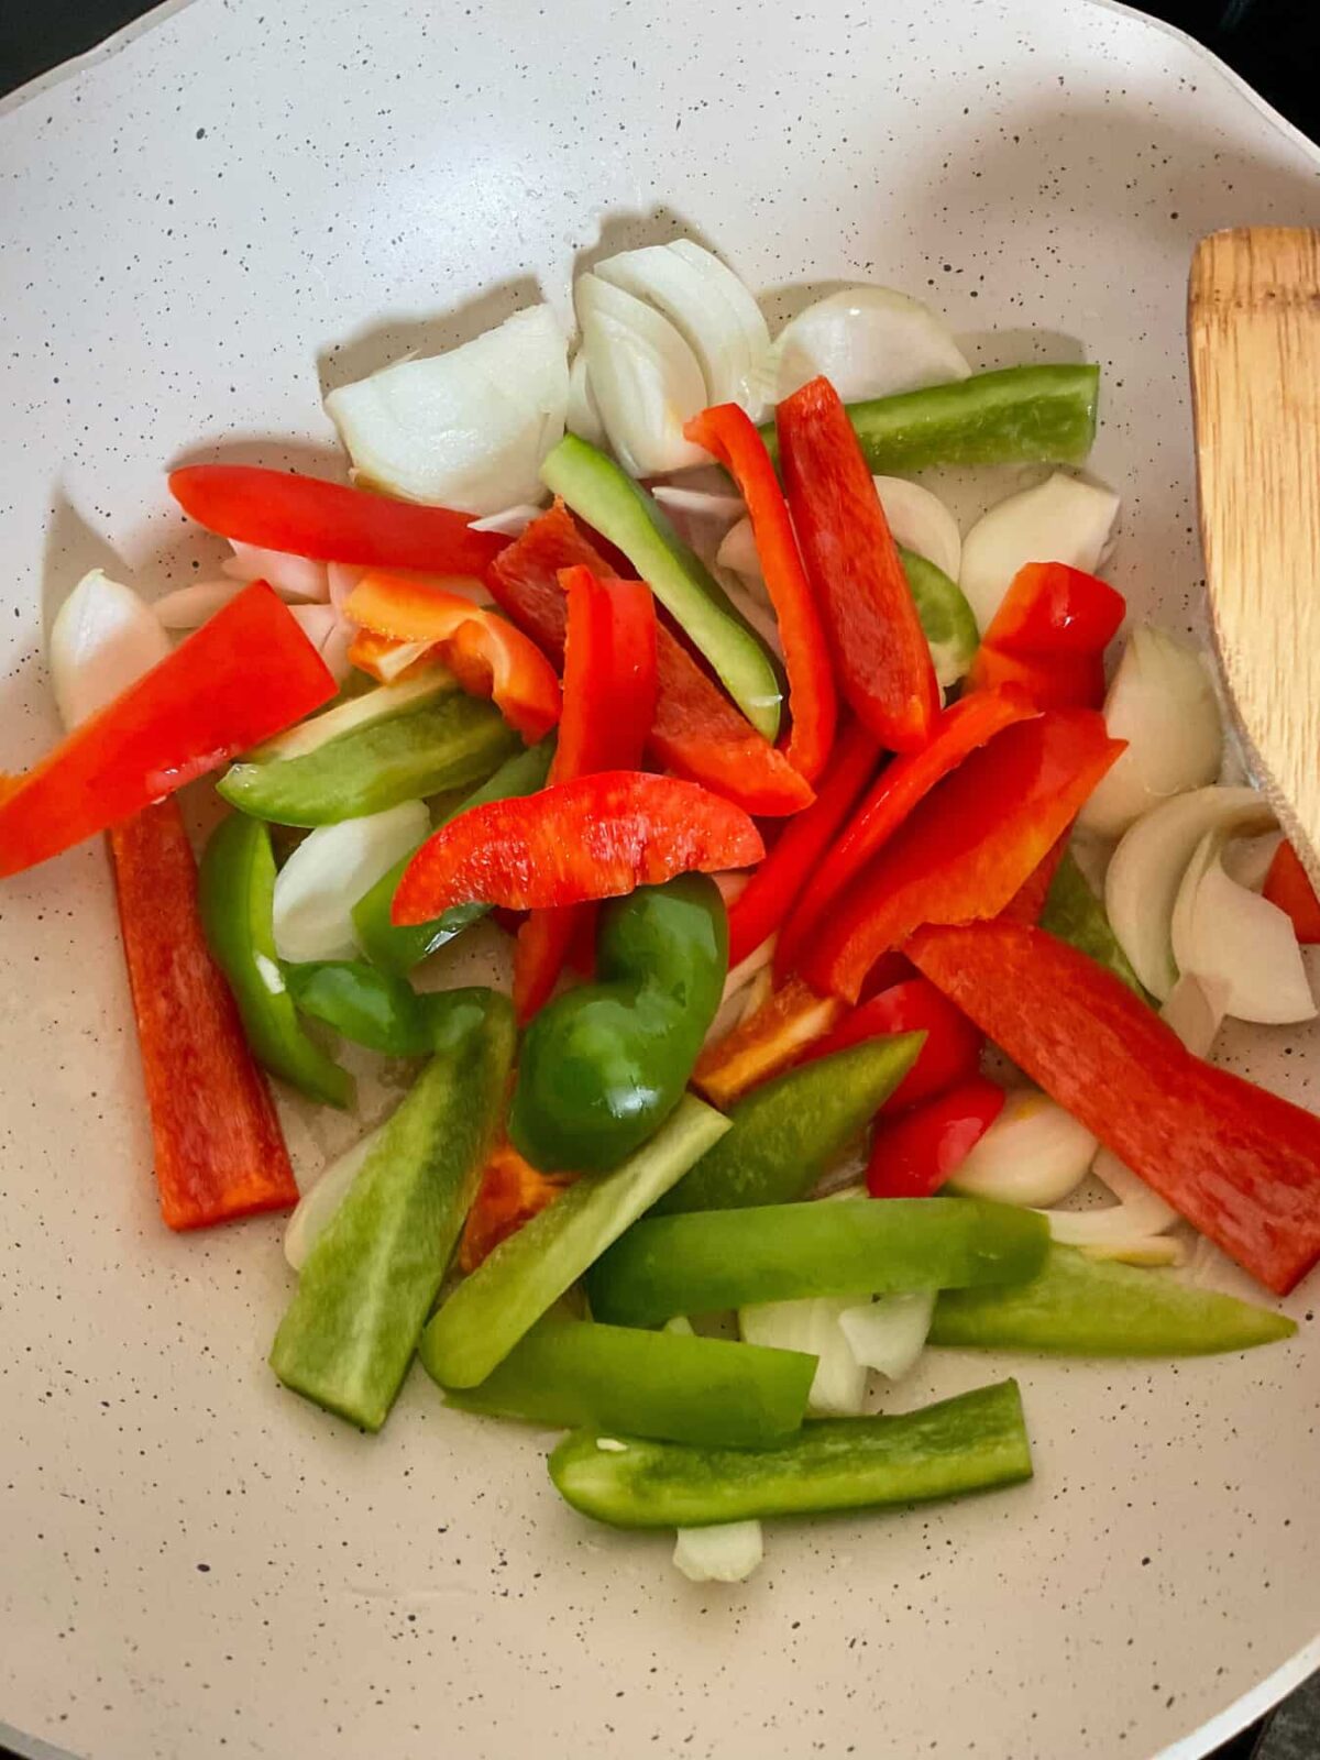
[[[81,55],[146,11],[143,0],[0,0],[0,92]],[[1320,139],[1320,63],[1306,49],[1320,21],[1320,0],[1146,0],[1144,11],[1199,37],[1290,121]],[[5,1753],[0,1749],[0,1760]],[[1269,1725],[1223,1748],[1218,1760],[1316,1756],[1320,1686],[1311,1683]]]

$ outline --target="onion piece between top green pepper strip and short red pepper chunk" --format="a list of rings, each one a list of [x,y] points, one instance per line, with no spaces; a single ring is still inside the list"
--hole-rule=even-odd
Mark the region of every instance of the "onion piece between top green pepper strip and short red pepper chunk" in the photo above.
[[[1109,551],[1118,509],[1112,489],[1056,470],[1033,489],[1019,489],[982,514],[963,539],[957,574],[980,628],[1028,561],[1067,561],[1095,574]]]

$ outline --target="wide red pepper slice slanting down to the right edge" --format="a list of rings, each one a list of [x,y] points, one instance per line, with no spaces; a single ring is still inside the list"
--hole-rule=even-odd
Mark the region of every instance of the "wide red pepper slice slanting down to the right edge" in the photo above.
[[[1320,1258],[1320,1118],[1193,1058],[1044,929],[920,929],[908,952],[1031,1081],[1278,1295]]]

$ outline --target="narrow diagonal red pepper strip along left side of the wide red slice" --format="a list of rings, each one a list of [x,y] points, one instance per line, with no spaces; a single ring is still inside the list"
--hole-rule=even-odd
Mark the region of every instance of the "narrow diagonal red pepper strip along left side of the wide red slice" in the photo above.
[[[898,831],[917,803],[977,746],[984,746],[1014,722],[1037,713],[1037,706],[1021,690],[987,690],[963,697],[938,718],[931,743],[922,752],[898,757],[880,773],[850,818],[848,829],[815,866],[803,896],[794,905],[774,949],[776,977],[794,970],[817,924],[825,920],[848,882]]]

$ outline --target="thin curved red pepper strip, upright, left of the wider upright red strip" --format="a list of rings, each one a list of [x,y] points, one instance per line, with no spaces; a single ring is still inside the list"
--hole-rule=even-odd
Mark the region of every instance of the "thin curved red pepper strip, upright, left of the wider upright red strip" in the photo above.
[[[834,744],[838,697],[825,630],[797,553],[788,503],[780,491],[774,465],[755,422],[736,403],[702,410],[686,422],[683,433],[693,445],[706,447],[720,459],[746,502],[788,672],[792,729],[780,744],[794,769],[815,781]]]

